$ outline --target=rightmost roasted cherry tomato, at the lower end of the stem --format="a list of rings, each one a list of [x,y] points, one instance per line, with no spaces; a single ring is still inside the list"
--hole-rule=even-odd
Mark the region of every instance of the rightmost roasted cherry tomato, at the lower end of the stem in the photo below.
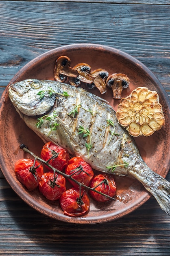
[[[95,188],[97,191],[109,195],[110,197],[113,197],[116,194],[115,181],[111,175],[99,174],[93,177],[90,187]],[[106,196],[92,190],[89,190],[89,195],[91,195],[91,197],[98,202],[107,202],[110,200]]]

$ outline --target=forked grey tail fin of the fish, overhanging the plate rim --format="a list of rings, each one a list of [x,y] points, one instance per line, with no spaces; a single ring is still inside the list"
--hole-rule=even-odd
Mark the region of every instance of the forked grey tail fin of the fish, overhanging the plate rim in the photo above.
[[[170,216],[170,183],[160,175],[157,186],[146,188],[157,200],[161,209]]]

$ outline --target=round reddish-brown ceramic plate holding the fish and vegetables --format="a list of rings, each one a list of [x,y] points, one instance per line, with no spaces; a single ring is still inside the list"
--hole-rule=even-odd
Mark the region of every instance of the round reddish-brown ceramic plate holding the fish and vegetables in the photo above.
[[[159,93],[163,105],[166,125],[150,137],[139,137],[135,141],[139,151],[148,166],[163,177],[170,168],[170,101],[161,83],[150,70],[132,56],[112,47],[94,44],[67,45],[53,49],[38,56],[25,65],[13,77],[9,84],[24,79],[53,79],[56,58],[66,55],[71,59],[71,67],[77,63],[88,63],[92,70],[105,68],[109,74],[125,73],[131,83],[128,90],[124,90],[122,97],[126,97],[134,88],[146,86]],[[92,91],[101,96],[97,90]],[[103,96],[115,110],[119,101],[112,99],[111,91]],[[94,202],[91,199],[90,211],[80,218],[65,216],[59,207],[59,202],[46,200],[36,189],[29,192],[15,177],[14,164],[17,159],[28,157],[19,145],[24,143],[35,154],[40,155],[43,142],[20,119],[8,98],[8,88],[4,91],[0,101],[0,166],[2,172],[13,190],[26,203],[37,211],[55,218],[72,223],[99,223],[115,220],[132,212],[150,198],[142,184],[128,177],[115,177],[117,185],[116,201],[107,203]]]

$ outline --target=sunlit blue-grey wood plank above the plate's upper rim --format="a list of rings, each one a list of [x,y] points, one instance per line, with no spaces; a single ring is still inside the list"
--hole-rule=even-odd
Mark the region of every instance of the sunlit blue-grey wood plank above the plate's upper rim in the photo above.
[[[1,86],[50,49],[99,43],[138,58],[169,90],[169,16],[166,5],[1,1]]]

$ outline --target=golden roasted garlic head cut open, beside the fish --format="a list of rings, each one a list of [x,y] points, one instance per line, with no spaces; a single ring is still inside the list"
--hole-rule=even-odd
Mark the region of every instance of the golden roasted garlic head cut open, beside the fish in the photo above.
[[[138,87],[121,99],[116,117],[133,137],[150,136],[165,124],[159,95],[146,87]]]

